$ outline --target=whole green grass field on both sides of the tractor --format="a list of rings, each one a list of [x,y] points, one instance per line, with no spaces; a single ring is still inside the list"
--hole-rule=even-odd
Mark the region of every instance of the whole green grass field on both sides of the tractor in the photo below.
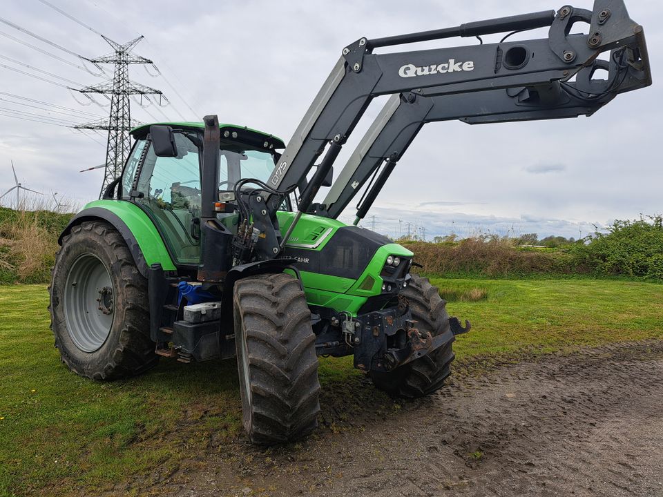
[[[546,353],[663,338],[663,285],[612,280],[439,280],[448,309],[472,321],[458,358]],[[0,496],[94,495],[132,475],[163,476],[191,452],[240,431],[233,361],[162,360],[98,383],[59,362],[44,285],[0,286]],[[323,389],[358,373],[323,359]]]

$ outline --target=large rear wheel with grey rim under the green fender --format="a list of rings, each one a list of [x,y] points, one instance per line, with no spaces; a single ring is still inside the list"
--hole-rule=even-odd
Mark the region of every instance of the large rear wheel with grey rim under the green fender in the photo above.
[[[86,221],[71,228],[55,256],[49,291],[55,347],[71,371],[115,380],[157,364],[147,280],[113,226]]]

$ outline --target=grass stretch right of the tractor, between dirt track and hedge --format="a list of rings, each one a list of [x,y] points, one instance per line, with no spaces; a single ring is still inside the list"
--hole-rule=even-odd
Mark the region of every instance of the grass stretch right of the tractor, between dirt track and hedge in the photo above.
[[[485,300],[449,302],[451,315],[472,322],[454,345],[457,358],[550,352],[578,345],[663,338],[663,285],[620,280],[454,280],[432,284]]]

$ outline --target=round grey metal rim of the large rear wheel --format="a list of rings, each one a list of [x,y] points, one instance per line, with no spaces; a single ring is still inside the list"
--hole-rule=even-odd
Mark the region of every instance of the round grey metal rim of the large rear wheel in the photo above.
[[[80,255],[71,265],[64,291],[64,317],[79,349],[94,352],[111,334],[115,292],[108,269],[96,255]]]

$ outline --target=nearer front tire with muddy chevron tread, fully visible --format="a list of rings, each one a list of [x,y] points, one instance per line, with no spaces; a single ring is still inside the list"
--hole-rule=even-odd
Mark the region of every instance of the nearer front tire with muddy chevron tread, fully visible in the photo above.
[[[242,418],[251,442],[291,442],[316,429],[316,336],[299,281],[258,275],[235,284],[235,342]]]

